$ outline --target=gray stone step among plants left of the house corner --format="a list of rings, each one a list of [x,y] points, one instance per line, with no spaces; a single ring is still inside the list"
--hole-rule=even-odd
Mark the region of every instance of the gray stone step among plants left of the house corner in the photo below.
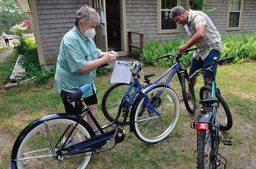
[[[24,55],[19,55],[19,57],[17,58],[17,61],[12,71],[12,75],[10,76],[11,82],[16,82],[17,80],[21,80],[22,77],[24,77],[24,73],[26,70],[25,68],[22,68],[22,66],[19,64],[19,60],[23,56]]]

